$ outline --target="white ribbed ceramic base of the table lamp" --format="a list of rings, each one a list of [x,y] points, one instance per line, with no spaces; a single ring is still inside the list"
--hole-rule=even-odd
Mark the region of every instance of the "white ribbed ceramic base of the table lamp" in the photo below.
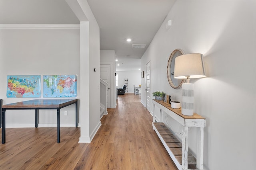
[[[181,113],[182,115],[194,115],[194,84],[183,83],[181,95]]]

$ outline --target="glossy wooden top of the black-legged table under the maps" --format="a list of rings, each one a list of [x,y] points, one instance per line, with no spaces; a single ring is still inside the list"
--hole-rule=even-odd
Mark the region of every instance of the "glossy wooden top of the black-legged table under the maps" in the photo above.
[[[38,109],[57,109],[70,104],[76,103],[77,99],[35,99],[23,102],[11,103],[2,105],[4,109],[26,109],[26,108],[38,108]]]

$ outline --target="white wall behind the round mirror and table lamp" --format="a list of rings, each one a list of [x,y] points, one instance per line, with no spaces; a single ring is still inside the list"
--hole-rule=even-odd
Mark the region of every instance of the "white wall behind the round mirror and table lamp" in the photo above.
[[[206,117],[204,168],[254,169],[256,158],[256,10],[254,0],[177,0],[142,57],[151,61],[152,91],[181,99],[168,84],[167,61],[174,49],[202,53],[208,77],[191,79],[195,112]],[[165,25],[172,20],[170,29]],[[159,56],[156,58],[156,56]],[[144,94],[143,94],[144,93]],[[141,100],[145,103],[145,92]],[[176,133],[181,127],[166,118]],[[189,147],[196,150],[196,129]]]

